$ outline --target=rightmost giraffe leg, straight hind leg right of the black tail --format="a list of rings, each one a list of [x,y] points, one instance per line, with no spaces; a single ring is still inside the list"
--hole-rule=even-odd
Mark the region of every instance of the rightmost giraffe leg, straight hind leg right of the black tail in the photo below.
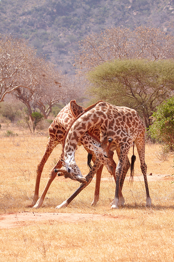
[[[148,182],[147,182],[147,165],[145,163],[145,138],[141,136],[137,136],[135,139],[135,144],[137,147],[138,155],[139,155],[139,160],[141,163],[141,170],[144,176],[144,183],[145,183],[145,188],[146,188],[146,206],[151,206],[151,198],[149,195],[149,189],[148,189]]]

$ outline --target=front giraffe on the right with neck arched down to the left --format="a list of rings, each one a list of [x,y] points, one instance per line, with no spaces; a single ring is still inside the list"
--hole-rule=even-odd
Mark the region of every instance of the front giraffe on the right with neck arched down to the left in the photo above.
[[[70,159],[70,154],[74,154],[78,141],[84,133],[94,127],[100,128],[101,142],[106,142],[108,137],[112,137],[113,142],[110,148],[116,150],[119,157],[117,168],[115,169],[115,197],[111,208],[118,208],[120,181],[122,181],[122,174],[127,166],[127,155],[133,143],[137,147],[144,176],[146,206],[151,206],[146,175],[147,165],[145,163],[145,127],[137,111],[128,107],[114,106],[104,101],[99,101],[84,109],[84,112],[73,123],[66,135],[63,148],[66,160]],[[70,166],[71,162],[66,162],[66,169],[70,168]],[[61,169],[56,169],[55,171],[61,172]]]

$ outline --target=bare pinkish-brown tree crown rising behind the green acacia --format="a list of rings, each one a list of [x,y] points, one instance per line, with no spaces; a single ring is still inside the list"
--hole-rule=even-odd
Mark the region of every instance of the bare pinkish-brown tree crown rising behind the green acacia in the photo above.
[[[140,26],[130,29],[111,27],[81,40],[76,62],[82,71],[114,59],[174,58],[174,37],[159,29]]]

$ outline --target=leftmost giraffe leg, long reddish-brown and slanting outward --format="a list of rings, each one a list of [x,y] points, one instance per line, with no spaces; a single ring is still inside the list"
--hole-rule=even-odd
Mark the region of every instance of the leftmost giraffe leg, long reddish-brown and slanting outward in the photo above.
[[[48,157],[52,153],[53,149],[57,146],[57,144],[58,144],[58,141],[52,141],[49,137],[44,155],[43,155],[40,163],[37,166],[35,192],[34,192],[32,203],[31,203],[30,207],[34,206],[36,204],[38,198],[39,198],[39,184],[40,184],[41,174],[42,174],[44,165],[45,165],[46,161],[48,160]]]

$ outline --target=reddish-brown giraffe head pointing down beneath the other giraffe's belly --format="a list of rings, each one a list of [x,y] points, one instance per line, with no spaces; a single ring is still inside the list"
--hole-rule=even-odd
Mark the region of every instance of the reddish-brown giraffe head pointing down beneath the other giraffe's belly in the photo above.
[[[113,139],[110,137],[108,139],[107,144],[101,143],[98,144],[91,144],[93,151],[96,157],[104,164],[104,166],[108,169],[108,172],[112,175],[113,174],[113,155],[114,152],[110,150],[110,145]]]

